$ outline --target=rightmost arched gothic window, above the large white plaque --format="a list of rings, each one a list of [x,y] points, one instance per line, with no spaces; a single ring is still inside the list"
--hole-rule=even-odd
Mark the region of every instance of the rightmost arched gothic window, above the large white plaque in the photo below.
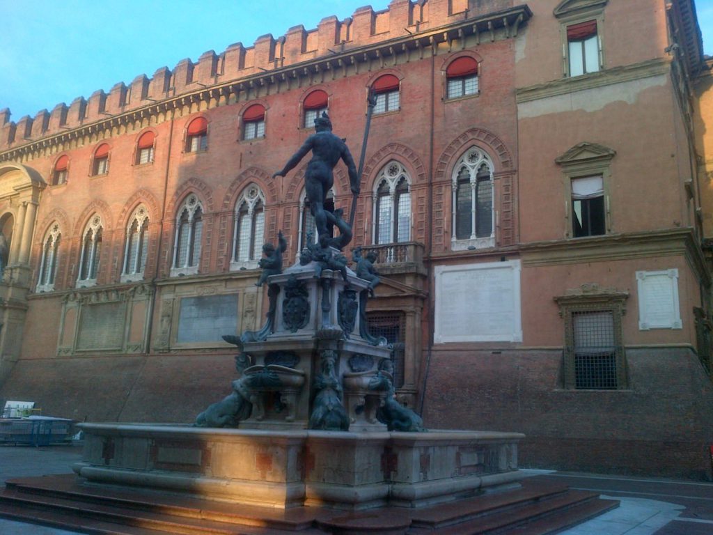
[[[495,245],[493,163],[485,151],[471,147],[453,168],[451,248]]]

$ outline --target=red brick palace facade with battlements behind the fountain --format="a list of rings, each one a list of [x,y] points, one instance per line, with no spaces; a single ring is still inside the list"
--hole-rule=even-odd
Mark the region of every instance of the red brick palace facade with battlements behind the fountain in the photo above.
[[[361,151],[373,332],[432,428],[528,466],[711,478],[709,69],[692,0],[409,0],[0,112],[0,397],[190,422],[262,324],[278,230],[314,225],[327,110]],[[707,174],[708,173],[708,174]],[[349,213],[346,168],[334,208]],[[0,239],[0,249],[2,248]]]

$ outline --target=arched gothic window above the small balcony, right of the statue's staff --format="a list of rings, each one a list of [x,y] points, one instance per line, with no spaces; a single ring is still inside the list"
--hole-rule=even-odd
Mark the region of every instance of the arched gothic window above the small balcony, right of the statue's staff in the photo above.
[[[392,160],[376,177],[374,190],[374,243],[411,240],[411,180],[401,163]]]

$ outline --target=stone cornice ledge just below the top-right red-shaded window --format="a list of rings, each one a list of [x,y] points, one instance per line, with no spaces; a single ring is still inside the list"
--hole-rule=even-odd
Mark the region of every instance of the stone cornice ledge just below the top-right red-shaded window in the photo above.
[[[659,76],[669,71],[670,60],[666,58],[650,59],[642,63],[633,63],[622,67],[607,68],[603,71],[574,76],[573,78],[560,78],[536,86],[515,89],[515,100],[518,104],[536,101],[540,98],[565,95],[575,91],[585,91],[614,83],[628,82],[650,76]]]

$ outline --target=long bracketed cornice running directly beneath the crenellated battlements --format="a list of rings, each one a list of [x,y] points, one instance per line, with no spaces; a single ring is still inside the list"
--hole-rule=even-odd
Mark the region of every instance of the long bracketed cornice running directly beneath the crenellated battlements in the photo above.
[[[30,141],[24,145],[10,148],[0,153],[2,161],[21,161],[24,157],[39,153],[46,148],[61,143],[73,141],[96,133],[111,132],[114,128],[126,127],[141,122],[145,118],[159,116],[160,114],[173,115],[182,113],[185,106],[206,103],[208,108],[225,105],[254,98],[257,91],[267,89],[267,94],[289,91],[297,82],[298,86],[312,85],[315,80],[327,81],[337,76],[347,76],[348,71],[359,73],[360,66],[376,62],[379,68],[394,66],[399,63],[399,56],[406,56],[404,61],[411,59],[412,54],[418,58],[429,57],[438,53],[439,46],[446,47],[448,52],[465,49],[466,39],[480,44],[484,41],[509,39],[518,35],[520,26],[525,24],[532,16],[532,11],[526,5],[515,6],[511,9],[496,11],[484,16],[464,19],[453,24],[441,26],[420,32],[413,32],[408,36],[389,39],[379,43],[361,46],[346,51],[333,51],[331,56],[320,56],[302,63],[295,63],[286,67],[277,67],[274,70],[253,74],[244,78],[215,83],[211,86],[202,86],[197,91],[184,93],[180,96],[165,98],[160,102],[151,103],[142,108],[135,108],[116,116],[95,121],[65,132]],[[283,86],[287,86],[283,88]],[[274,89],[274,92],[272,92]],[[250,96],[252,93],[253,96]]]

